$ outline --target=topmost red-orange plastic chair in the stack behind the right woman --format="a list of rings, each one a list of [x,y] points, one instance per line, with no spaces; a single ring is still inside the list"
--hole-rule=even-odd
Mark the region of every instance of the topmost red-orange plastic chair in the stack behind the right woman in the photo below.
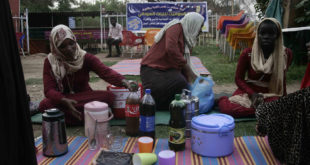
[[[244,14],[244,10],[241,10],[236,16],[221,16],[217,24],[217,30],[220,31],[221,29],[223,29],[223,23],[225,20],[238,21],[242,18],[243,14]],[[223,33],[221,32],[221,34]],[[220,49],[223,50],[224,44],[225,44],[225,36],[221,35],[219,39],[220,39],[219,41]]]

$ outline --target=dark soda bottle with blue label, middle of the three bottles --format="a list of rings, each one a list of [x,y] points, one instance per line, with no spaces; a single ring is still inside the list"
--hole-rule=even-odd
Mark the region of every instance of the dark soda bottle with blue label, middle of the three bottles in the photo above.
[[[149,136],[155,141],[155,101],[150,89],[145,89],[145,95],[140,101],[140,136]]]

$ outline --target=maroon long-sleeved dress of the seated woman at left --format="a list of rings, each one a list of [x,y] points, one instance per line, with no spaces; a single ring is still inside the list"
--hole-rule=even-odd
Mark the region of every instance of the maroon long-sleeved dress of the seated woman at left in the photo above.
[[[84,104],[90,101],[101,101],[112,106],[115,96],[109,91],[94,91],[89,85],[89,73],[95,72],[101,79],[115,86],[123,86],[124,77],[116,71],[105,66],[96,56],[86,54],[83,67],[72,75],[67,75],[62,79],[63,92],[60,92],[54,77],[51,64],[46,58],[43,68],[43,84],[45,99],[40,102],[39,110],[44,112],[46,109],[59,108],[65,114],[65,121],[70,125],[83,124],[68,112],[67,108],[61,105],[63,97],[76,100],[76,109],[82,112],[84,118]],[[70,93],[70,88],[73,94]]]

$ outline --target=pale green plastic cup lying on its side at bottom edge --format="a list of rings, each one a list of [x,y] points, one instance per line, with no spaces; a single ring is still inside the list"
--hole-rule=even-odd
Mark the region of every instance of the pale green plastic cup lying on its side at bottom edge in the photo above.
[[[157,155],[154,153],[136,153],[133,155],[134,165],[152,165],[157,162]]]

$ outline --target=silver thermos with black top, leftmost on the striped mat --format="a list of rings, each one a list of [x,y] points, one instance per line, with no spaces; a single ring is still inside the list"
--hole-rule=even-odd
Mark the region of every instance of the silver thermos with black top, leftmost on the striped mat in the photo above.
[[[59,109],[48,109],[43,113],[42,136],[44,156],[60,156],[68,152],[64,114]]]

